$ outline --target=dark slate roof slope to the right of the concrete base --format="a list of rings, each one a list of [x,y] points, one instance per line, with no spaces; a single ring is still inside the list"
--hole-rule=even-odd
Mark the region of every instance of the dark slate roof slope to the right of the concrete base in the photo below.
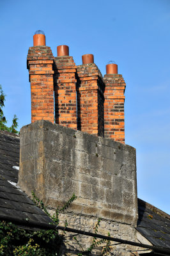
[[[170,249],[170,216],[138,199],[137,230],[154,246]]]

